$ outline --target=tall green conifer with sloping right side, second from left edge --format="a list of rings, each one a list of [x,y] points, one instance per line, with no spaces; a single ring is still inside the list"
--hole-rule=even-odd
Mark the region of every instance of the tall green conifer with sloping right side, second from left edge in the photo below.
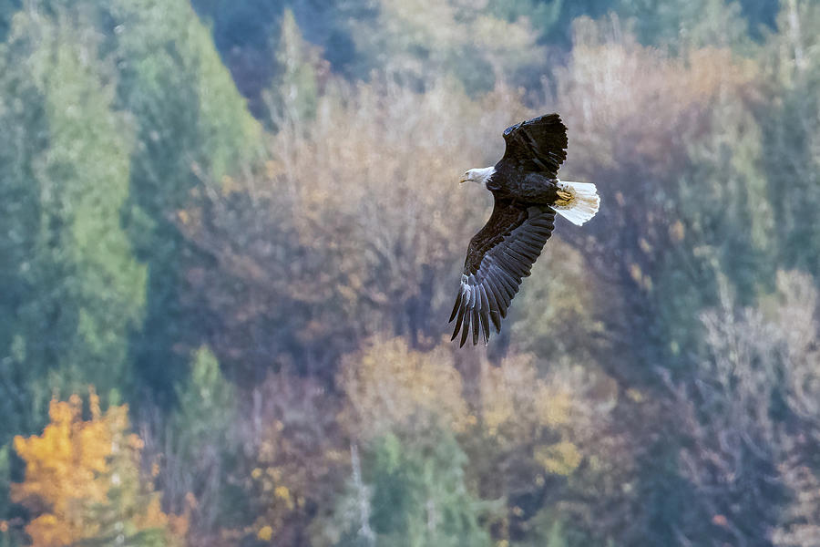
[[[223,178],[248,168],[258,153],[259,127],[210,41],[183,0],[114,2],[113,48],[131,59],[120,70],[119,108],[133,117],[126,224],[149,266],[145,323],[132,349],[141,387],[172,398],[184,378],[184,352],[196,343],[192,307],[182,301],[186,265],[195,263],[179,234],[177,213],[199,192],[218,191]]]

